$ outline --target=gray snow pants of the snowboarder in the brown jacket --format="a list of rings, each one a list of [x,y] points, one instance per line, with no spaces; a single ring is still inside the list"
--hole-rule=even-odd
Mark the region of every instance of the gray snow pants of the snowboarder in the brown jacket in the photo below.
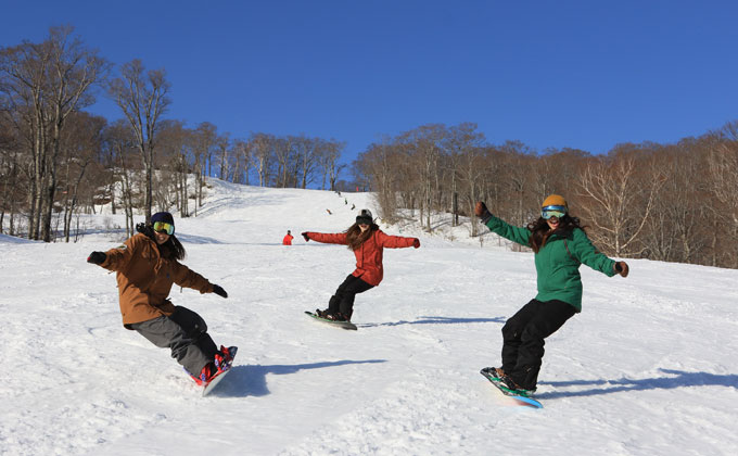
[[[169,317],[141,321],[130,325],[130,328],[160,349],[170,349],[171,357],[198,376],[207,363],[213,362],[218,347],[200,315],[182,306],[176,307]]]

